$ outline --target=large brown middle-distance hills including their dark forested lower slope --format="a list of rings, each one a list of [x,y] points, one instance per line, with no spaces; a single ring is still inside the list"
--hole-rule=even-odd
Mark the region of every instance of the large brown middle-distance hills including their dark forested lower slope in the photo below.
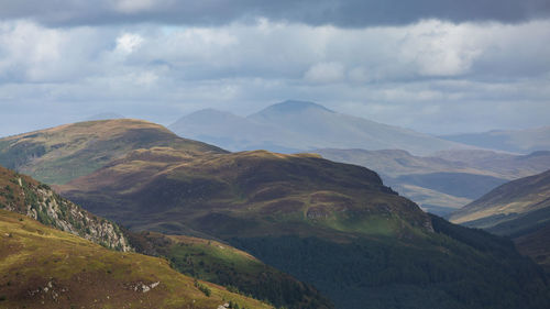
[[[15,155],[22,144],[41,151]],[[0,140],[0,154],[3,164],[56,181],[64,197],[132,231],[231,244],[312,284],[337,308],[550,302],[547,275],[512,242],[421,211],[361,166],[316,154],[229,153],[138,120],[21,134]],[[63,161],[80,175],[42,168]],[[174,267],[212,271],[189,268],[185,254],[172,255]]]

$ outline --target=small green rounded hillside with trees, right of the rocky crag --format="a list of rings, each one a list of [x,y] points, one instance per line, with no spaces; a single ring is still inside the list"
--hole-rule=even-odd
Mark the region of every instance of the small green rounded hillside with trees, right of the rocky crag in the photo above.
[[[310,285],[265,265],[227,243],[183,235],[142,232],[132,235],[139,251],[165,256],[183,274],[219,284],[284,308],[333,308]]]

